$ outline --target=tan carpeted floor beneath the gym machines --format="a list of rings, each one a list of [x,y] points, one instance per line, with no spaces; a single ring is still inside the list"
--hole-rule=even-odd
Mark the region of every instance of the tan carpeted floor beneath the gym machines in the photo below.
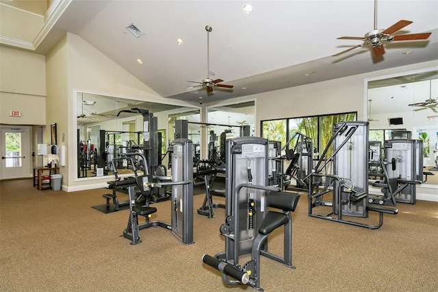
[[[225,286],[218,271],[202,263],[203,254],[224,251],[224,209],[215,209],[214,219],[197,215],[203,195],[194,196],[194,244],[149,228],[140,230],[142,243],[129,245],[120,236],[129,210],[103,214],[90,208],[104,204],[103,193],[38,191],[31,180],[0,181],[0,291],[253,291]],[[153,219],[170,222],[170,202],[154,206]],[[438,291],[438,203],[398,209],[398,215],[385,216],[382,228],[368,230],[308,217],[302,195],[294,212],[296,269],[262,258],[261,287]],[[269,246],[281,254],[280,231]]]

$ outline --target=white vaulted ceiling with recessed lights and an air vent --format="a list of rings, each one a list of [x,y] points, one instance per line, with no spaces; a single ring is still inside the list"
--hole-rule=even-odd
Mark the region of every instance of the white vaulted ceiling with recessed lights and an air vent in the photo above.
[[[4,2],[3,2],[4,3]],[[244,14],[245,4],[253,6]],[[438,1],[379,0],[377,24],[385,29],[413,21],[398,33],[432,32],[428,40],[393,42],[373,58],[370,48],[331,57],[374,29],[374,1],[129,1],[73,0],[41,45],[47,53],[65,32],[81,36],[163,97],[220,101],[279,88],[438,59]],[[134,23],[136,38],[125,26]],[[207,32],[212,79],[234,89],[188,90],[207,77]],[[183,46],[177,45],[181,38]],[[403,51],[413,53],[403,55]],[[136,60],[140,58],[143,64]],[[309,74],[309,76],[306,76]],[[242,88],[246,88],[243,90]]]

